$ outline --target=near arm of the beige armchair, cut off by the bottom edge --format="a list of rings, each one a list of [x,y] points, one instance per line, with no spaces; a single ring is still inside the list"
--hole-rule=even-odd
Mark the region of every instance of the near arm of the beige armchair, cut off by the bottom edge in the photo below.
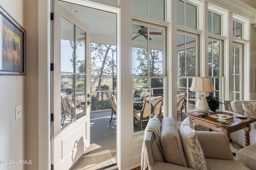
[[[184,166],[179,166],[175,164],[170,164],[166,162],[156,161],[154,166],[148,166],[149,170],[192,170],[191,168],[187,168]]]

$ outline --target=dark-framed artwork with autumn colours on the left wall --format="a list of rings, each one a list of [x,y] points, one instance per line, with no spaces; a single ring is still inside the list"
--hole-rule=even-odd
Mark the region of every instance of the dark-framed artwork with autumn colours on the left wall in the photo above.
[[[26,75],[26,31],[1,6],[0,75]]]

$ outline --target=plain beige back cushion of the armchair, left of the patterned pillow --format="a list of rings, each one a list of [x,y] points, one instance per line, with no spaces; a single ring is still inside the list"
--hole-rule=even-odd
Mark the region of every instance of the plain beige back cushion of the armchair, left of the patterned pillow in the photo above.
[[[188,167],[180,140],[179,128],[172,117],[166,117],[162,121],[161,146],[165,162]]]

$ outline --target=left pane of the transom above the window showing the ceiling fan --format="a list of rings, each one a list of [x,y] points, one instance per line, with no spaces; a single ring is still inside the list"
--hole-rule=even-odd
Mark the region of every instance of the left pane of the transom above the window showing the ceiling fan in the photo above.
[[[148,0],[132,0],[132,12],[148,16]]]

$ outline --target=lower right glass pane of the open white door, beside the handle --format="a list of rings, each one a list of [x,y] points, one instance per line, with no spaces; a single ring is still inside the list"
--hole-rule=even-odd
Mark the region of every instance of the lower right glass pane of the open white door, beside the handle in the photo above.
[[[86,79],[84,74],[76,74],[76,119],[85,116],[87,96],[85,95]]]

